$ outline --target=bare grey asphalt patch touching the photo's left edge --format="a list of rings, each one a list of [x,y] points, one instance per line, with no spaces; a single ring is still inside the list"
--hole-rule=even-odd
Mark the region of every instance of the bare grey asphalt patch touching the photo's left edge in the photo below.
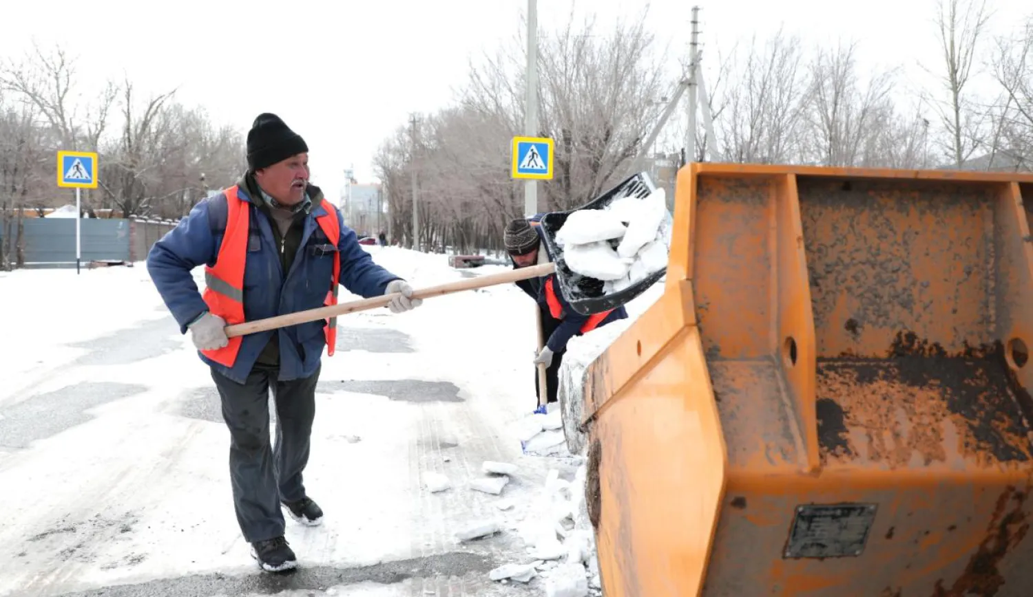
[[[147,392],[146,386],[84,382],[0,409],[0,445],[28,447],[93,417],[84,411],[113,400]]]

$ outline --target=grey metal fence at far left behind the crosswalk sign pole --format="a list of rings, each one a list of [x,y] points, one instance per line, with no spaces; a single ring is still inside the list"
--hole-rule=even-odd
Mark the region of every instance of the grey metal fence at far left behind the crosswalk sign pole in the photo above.
[[[81,244],[83,263],[90,261],[140,261],[147,259],[151,245],[175,224],[138,220],[83,219]],[[23,221],[25,267],[74,267],[75,220],[68,218],[27,218]],[[4,250],[6,231],[0,229]],[[11,227],[17,235],[17,225]],[[15,236],[17,238],[17,236]],[[9,256],[14,262],[14,252]]]

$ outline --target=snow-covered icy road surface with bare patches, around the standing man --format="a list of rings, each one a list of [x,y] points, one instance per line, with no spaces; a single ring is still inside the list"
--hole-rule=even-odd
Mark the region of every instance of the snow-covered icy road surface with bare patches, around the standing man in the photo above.
[[[416,287],[504,269],[367,248]],[[325,522],[288,518],[301,568],[272,575],[233,517],[209,371],[144,264],[0,273],[0,595],[541,595],[488,577],[530,561],[519,528],[549,469],[578,464],[524,456],[510,429],[534,407],[533,313],[505,285],[338,320],[306,470]],[[499,496],[470,488],[489,460],[518,468]],[[456,539],[482,520],[502,532]]]

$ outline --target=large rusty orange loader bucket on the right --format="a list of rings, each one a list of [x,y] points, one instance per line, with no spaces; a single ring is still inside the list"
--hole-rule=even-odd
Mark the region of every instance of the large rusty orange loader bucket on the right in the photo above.
[[[586,371],[607,597],[1033,595],[1033,175],[681,170]]]

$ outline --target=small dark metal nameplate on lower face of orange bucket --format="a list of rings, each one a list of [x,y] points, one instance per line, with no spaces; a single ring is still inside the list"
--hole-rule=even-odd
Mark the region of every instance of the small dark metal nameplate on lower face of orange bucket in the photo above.
[[[806,504],[796,506],[786,558],[856,557],[865,551],[875,522],[875,504]]]

